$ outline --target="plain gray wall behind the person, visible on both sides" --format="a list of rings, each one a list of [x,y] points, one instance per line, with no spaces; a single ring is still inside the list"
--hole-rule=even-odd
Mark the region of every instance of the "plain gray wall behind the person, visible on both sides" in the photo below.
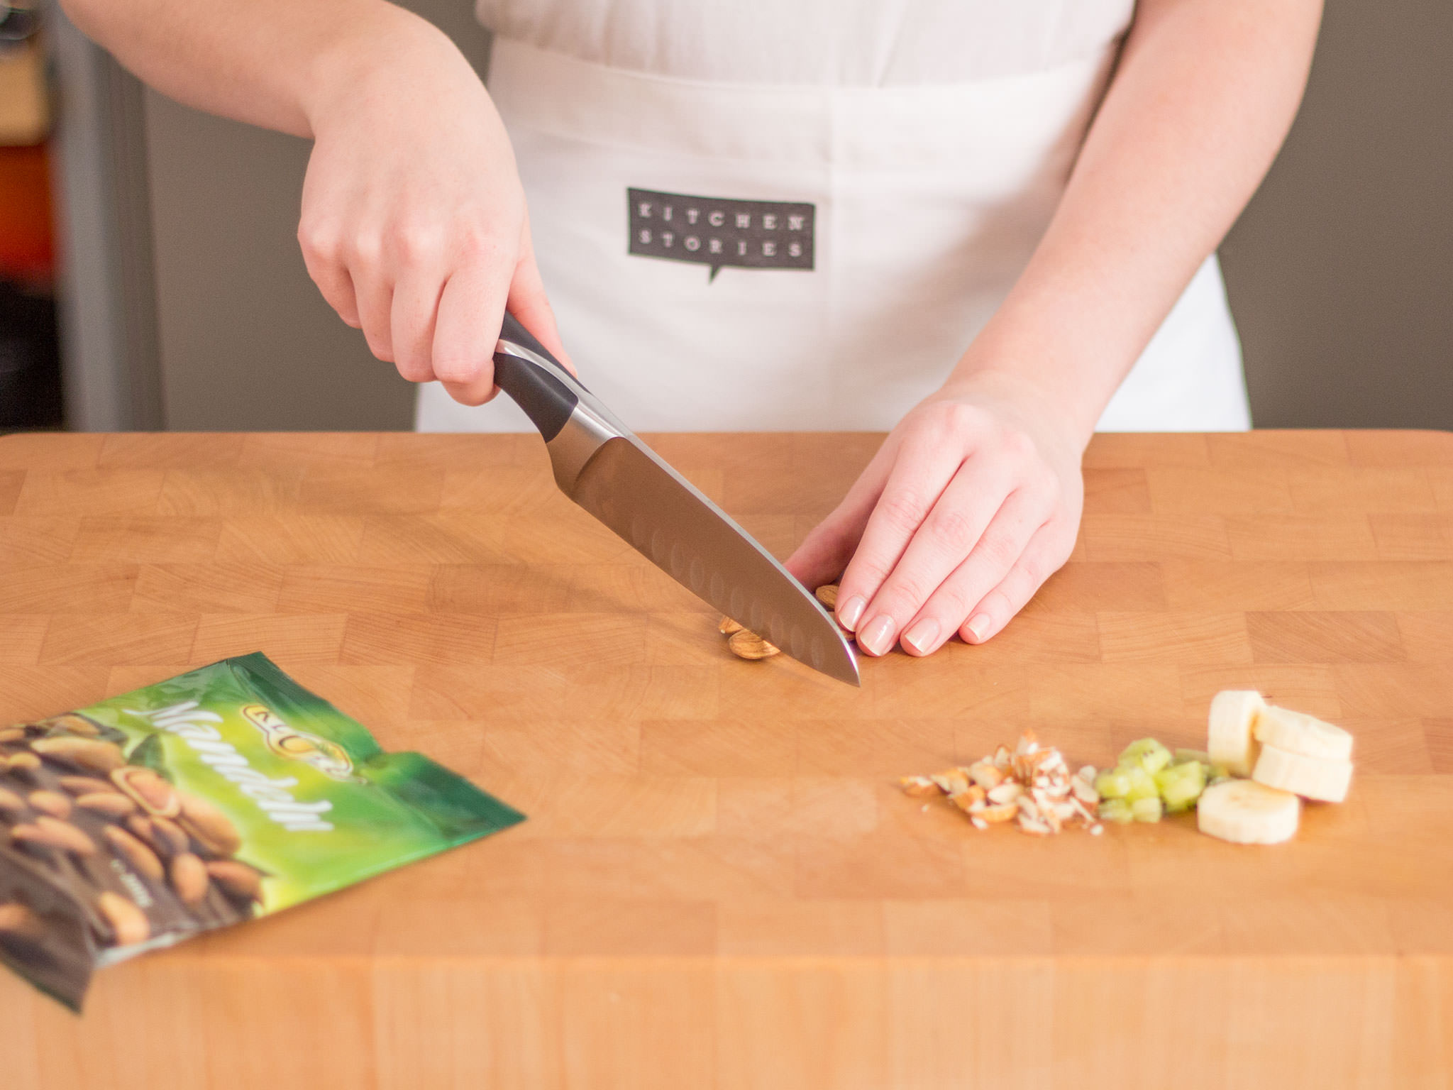
[[[468,0],[408,4],[477,65]],[[1306,105],[1222,259],[1258,426],[1453,427],[1453,3],[1328,0]],[[147,99],[171,429],[408,427],[295,241],[308,147]]]

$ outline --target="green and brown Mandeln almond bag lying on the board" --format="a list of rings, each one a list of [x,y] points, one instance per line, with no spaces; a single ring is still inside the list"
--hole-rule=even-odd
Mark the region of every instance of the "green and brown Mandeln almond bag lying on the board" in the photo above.
[[[263,654],[0,728],[0,958],[92,971],[523,821]]]

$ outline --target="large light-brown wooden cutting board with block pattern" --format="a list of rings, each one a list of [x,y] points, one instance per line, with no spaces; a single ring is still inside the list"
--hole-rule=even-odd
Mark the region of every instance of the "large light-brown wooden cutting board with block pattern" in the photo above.
[[[878,443],[663,436],[772,549]],[[103,971],[7,975],[12,1087],[1447,1087],[1453,437],[1097,436],[1072,561],[863,687],[731,658],[538,437],[0,439],[0,721],[262,650],[525,810]],[[1296,841],[978,833],[897,776],[1032,727],[1199,746],[1222,687],[1347,725]]]

